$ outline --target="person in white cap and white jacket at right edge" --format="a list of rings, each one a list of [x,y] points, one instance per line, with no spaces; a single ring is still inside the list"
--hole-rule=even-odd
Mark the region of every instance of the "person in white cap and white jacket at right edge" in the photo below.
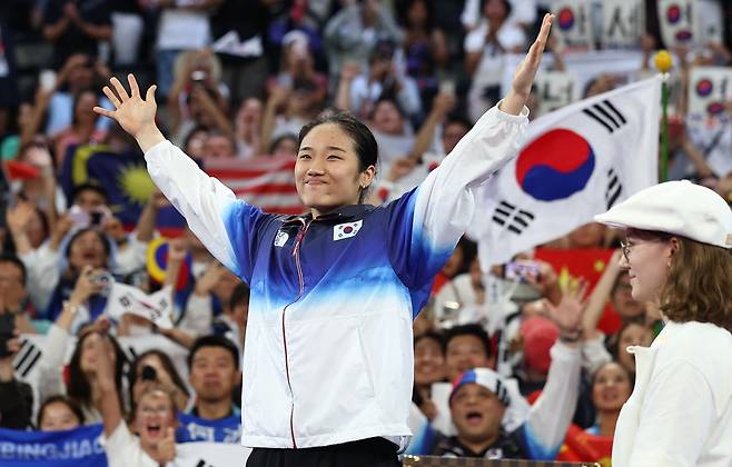
[[[625,229],[633,298],[665,326],[635,355],[614,467],[732,466],[732,211],[689,181],[646,188],[595,220]]]

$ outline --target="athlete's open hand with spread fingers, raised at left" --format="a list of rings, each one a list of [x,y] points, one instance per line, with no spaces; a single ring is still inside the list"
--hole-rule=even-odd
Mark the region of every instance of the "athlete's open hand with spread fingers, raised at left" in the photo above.
[[[115,91],[109,86],[105,86],[102,89],[116,110],[107,110],[101,107],[95,107],[93,110],[100,116],[116,120],[125,131],[139,139],[141,131],[147,128],[155,128],[155,115],[158,109],[155,102],[157,86],[150,86],[145,93],[145,100],[142,100],[135,76],[132,73],[128,74],[127,80],[131,95],[127,93],[127,90],[117,78],[109,80]]]

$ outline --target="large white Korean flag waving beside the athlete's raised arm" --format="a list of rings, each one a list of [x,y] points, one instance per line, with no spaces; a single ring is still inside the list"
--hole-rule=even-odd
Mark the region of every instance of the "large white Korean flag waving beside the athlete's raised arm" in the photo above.
[[[481,188],[468,231],[481,266],[562,237],[657,183],[660,109],[655,77],[534,120],[516,158]]]

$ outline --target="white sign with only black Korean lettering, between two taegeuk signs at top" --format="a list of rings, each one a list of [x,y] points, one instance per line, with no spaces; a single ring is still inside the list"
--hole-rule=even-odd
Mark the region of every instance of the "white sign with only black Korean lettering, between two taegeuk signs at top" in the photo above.
[[[604,0],[602,2],[603,49],[633,49],[641,43],[645,30],[641,0]]]

